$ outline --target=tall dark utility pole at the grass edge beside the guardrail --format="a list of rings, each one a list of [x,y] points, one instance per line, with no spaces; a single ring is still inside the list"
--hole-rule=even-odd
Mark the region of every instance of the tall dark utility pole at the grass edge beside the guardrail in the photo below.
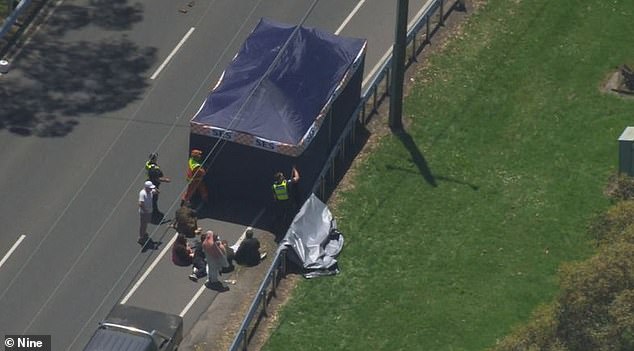
[[[407,7],[409,0],[397,0],[396,31],[392,48],[392,81],[390,82],[390,128],[403,129],[403,81],[405,79],[405,48],[407,47]]]

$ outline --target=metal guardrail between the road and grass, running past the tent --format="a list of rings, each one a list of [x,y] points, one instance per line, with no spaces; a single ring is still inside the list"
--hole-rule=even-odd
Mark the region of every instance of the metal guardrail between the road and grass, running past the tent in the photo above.
[[[411,46],[411,55],[408,58],[410,62],[416,61],[416,56],[422,49],[422,45],[429,42],[432,34],[431,26],[433,18],[438,16],[438,22],[436,25],[442,26],[444,25],[444,17],[451,8],[464,8],[464,0],[453,0],[451,6],[447,9],[447,11],[445,11],[445,5],[448,2],[448,0],[431,0],[417,14],[414,24],[407,31],[407,45],[408,47]],[[416,37],[423,28],[425,29],[423,43],[417,48]],[[359,105],[353,112],[350,121],[344,128],[341,136],[335,144],[335,147],[328,156],[324,168],[319,173],[312,192],[315,193],[321,200],[324,200],[326,196],[326,187],[329,185],[328,182],[330,181],[330,185],[335,185],[335,164],[337,157],[346,158],[346,144],[348,140],[354,143],[354,135],[356,133],[355,127],[357,126],[357,123],[366,125],[369,122],[370,117],[376,113],[383,98],[389,98],[391,64],[392,55],[390,53],[390,55],[388,55],[385,60],[380,63],[378,73],[372,78],[368,84],[368,88],[363,91]],[[382,84],[384,81],[385,84]],[[380,91],[379,88],[381,85],[383,85],[383,90]],[[370,107],[369,111],[368,107]],[[286,247],[278,247],[275,252],[271,266],[269,267],[262,284],[260,284],[260,288],[258,289],[257,294],[253,299],[242,324],[240,325],[238,333],[233,339],[229,348],[230,351],[247,351],[250,336],[252,336],[255,328],[257,328],[260,319],[267,315],[266,308],[268,302],[271,297],[275,296],[279,280],[286,275],[286,250]]]

